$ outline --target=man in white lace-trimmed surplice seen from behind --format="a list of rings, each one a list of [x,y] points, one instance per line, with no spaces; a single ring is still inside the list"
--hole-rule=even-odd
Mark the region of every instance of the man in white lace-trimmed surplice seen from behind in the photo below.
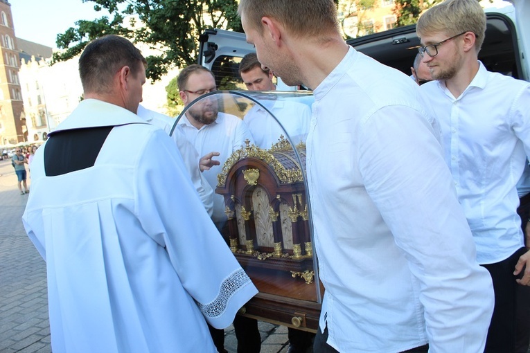
[[[46,260],[55,353],[215,352],[254,296],[175,143],[136,115],[145,59],[108,35],[79,59],[85,100],[35,153],[24,227]]]

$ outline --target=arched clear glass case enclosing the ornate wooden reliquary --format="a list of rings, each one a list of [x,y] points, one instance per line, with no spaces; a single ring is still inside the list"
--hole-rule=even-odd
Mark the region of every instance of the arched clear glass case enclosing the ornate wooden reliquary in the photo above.
[[[315,332],[323,287],[306,193],[311,92],[214,91],[177,117],[213,188],[213,221],[259,292],[240,314]],[[174,133],[174,132],[172,132]]]

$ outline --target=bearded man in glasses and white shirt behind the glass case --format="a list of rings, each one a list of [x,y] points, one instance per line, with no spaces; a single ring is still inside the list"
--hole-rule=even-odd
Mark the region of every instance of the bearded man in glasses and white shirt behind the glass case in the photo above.
[[[188,107],[200,96],[216,91],[213,73],[204,66],[193,64],[180,71],[177,78],[179,96]],[[179,128],[194,146],[200,156],[209,154],[218,157],[218,165],[213,165],[203,174],[211,188],[217,188],[217,175],[221,172],[224,162],[233,152],[245,145],[245,140],[253,141],[247,125],[240,118],[218,111],[217,98],[204,97],[194,103],[179,121]],[[212,220],[220,231],[227,221],[224,213],[224,199],[220,194],[213,195]],[[227,244],[224,244],[227,247]],[[227,247],[228,248],[228,247]],[[256,320],[236,316],[233,326],[238,338],[238,353],[258,353],[261,338]],[[210,328],[210,332],[219,352],[224,350],[224,331]]]

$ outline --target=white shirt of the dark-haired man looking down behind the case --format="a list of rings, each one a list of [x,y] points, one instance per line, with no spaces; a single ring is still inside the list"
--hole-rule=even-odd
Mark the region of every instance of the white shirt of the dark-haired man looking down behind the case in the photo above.
[[[274,114],[285,131],[269,112],[260,105],[254,105],[245,115],[245,123],[254,137],[256,146],[268,150],[278,142],[280,135],[287,138],[285,132],[294,145],[306,142],[311,118],[310,107],[285,100],[262,100],[260,103]]]

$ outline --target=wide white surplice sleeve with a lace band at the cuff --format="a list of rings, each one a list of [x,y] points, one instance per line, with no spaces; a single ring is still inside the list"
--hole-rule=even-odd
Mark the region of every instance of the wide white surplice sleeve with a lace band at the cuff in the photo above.
[[[165,163],[152,156],[158,154]],[[257,293],[197,197],[175,143],[154,132],[139,161],[136,214],[145,231],[166,248],[182,285],[206,320],[227,327]]]

